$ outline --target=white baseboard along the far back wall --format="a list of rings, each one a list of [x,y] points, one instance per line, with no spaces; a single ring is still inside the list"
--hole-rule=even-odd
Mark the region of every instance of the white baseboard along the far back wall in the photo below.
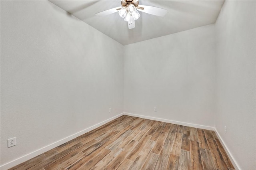
[[[150,120],[154,120],[154,121],[161,121],[161,122],[166,122],[166,123],[172,123],[172,124],[176,124],[176,125],[183,125],[183,126],[188,126],[188,127],[194,127],[194,128],[202,128],[202,129],[207,129],[207,130],[215,130],[214,127],[208,127],[208,126],[204,126],[204,125],[196,125],[196,124],[192,124],[192,123],[185,123],[185,122],[179,122],[179,121],[172,121],[172,120],[161,119],[161,118],[157,118],[157,117],[137,115],[137,114],[133,114],[133,113],[124,113],[124,115],[133,116],[133,117],[140,117],[140,118],[150,119]]]

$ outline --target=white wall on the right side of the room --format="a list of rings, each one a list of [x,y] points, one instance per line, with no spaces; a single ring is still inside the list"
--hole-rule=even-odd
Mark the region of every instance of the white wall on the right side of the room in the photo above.
[[[244,170],[256,169],[255,9],[255,1],[225,1],[216,21],[215,128]]]

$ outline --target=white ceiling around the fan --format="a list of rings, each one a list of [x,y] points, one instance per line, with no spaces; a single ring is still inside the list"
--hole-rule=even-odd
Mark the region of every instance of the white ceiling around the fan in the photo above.
[[[164,17],[140,13],[135,28],[118,12],[99,17],[95,14],[121,6],[120,0],[50,0],[122,45],[166,36],[215,23],[224,0],[139,0],[139,4],[168,10]]]

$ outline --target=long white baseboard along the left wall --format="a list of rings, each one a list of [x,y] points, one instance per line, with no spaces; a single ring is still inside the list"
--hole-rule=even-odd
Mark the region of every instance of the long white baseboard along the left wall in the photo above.
[[[100,122],[100,123],[98,123],[98,124],[96,124],[96,125],[93,125],[93,126],[91,126],[91,127],[86,128],[86,129],[84,129],[84,130],[82,130],[82,131],[80,131],[80,132],[77,132],[77,133],[72,134],[72,135],[70,135],[70,136],[68,136],[68,137],[66,137],[66,138],[63,138],[63,139],[61,139],[61,140],[58,140],[57,142],[54,142],[54,143],[49,144],[49,145],[47,145],[47,146],[45,146],[45,147],[43,147],[43,148],[40,148],[40,149],[38,149],[38,150],[36,150],[36,151],[34,151],[34,152],[31,152],[31,153],[29,153],[29,154],[26,154],[26,155],[24,155],[24,156],[22,156],[22,157],[20,157],[20,158],[18,158],[18,159],[16,159],[16,160],[12,160],[11,162],[8,162],[8,163],[6,163],[6,164],[1,165],[1,166],[0,166],[0,169],[1,169],[1,170],[7,170],[7,169],[9,169],[9,168],[12,168],[12,167],[14,167],[14,166],[16,166],[16,165],[18,165],[18,164],[20,164],[20,163],[22,163],[22,162],[25,162],[25,161],[27,161],[27,160],[30,160],[31,158],[34,158],[35,156],[38,156],[38,155],[40,155],[40,154],[42,154],[42,153],[44,153],[44,152],[46,152],[46,151],[48,151],[48,150],[51,150],[52,148],[55,148],[55,147],[57,147],[57,146],[59,146],[59,145],[61,145],[61,144],[64,144],[65,142],[68,142],[68,141],[70,141],[70,140],[72,140],[72,139],[74,139],[74,138],[76,138],[76,137],[78,137],[78,136],[80,136],[80,135],[82,135],[82,134],[84,134],[84,133],[86,133],[86,132],[89,132],[89,131],[91,131],[91,130],[97,128],[97,127],[100,127],[101,125],[104,125],[105,123],[108,123],[108,122],[110,122],[110,121],[112,121],[112,120],[114,120],[114,119],[116,119],[116,118],[118,118],[118,117],[120,117],[120,116],[122,116],[122,115],[124,115],[124,113],[121,113],[121,114],[119,114],[119,115],[116,115],[116,116],[114,116],[114,117],[111,117],[110,119],[107,119],[107,120],[105,120],[105,121],[102,121],[102,122]]]

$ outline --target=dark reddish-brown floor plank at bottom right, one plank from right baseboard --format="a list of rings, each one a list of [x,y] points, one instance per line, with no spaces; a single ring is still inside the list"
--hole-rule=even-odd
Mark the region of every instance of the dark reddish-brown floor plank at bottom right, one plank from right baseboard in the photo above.
[[[224,158],[220,152],[218,144],[215,140],[208,139],[208,144],[210,146],[210,151],[212,153],[213,162],[215,167],[220,170],[228,170],[228,166],[224,161]]]

